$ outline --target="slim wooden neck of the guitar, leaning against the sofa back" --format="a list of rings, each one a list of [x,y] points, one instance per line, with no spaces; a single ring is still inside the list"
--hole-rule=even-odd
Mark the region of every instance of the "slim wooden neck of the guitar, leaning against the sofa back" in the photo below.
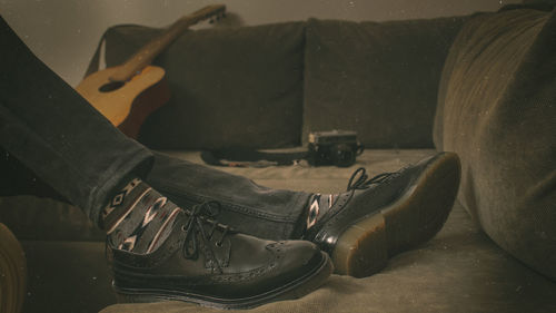
[[[190,26],[198,23],[216,14],[222,14],[226,10],[224,4],[205,7],[191,16],[183,17],[172,23],[161,36],[151,40],[129,58],[119,69],[110,76],[111,81],[128,81],[152,60],[160,55],[170,43],[176,40]]]

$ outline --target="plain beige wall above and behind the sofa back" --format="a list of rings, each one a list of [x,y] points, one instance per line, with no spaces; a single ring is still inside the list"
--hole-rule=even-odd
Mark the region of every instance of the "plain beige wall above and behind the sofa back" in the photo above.
[[[163,27],[209,3],[226,2],[226,25],[320,19],[424,19],[495,11],[520,0],[0,0],[0,13],[33,52],[70,85],[82,78],[106,28]],[[206,27],[206,26],[203,26]],[[6,47],[2,47],[4,49]]]

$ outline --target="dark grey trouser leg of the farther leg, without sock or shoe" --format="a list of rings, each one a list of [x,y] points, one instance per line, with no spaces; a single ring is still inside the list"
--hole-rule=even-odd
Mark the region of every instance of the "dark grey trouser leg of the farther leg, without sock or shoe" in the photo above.
[[[219,219],[267,239],[299,238],[310,194],[278,190],[251,179],[160,153],[146,182],[182,207],[221,204]],[[71,203],[0,146],[0,196],[32,195]]]

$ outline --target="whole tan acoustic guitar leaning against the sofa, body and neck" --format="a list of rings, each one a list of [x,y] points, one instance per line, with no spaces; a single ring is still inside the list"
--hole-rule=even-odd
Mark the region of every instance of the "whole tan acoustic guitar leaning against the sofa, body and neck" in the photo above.
[[[76,90],[123,134],[137,138],[145,119],[166,104],[170,91],[165,70],[151,66],[181,32],[206,19],[224,17],[226,6],[207,6],[172,23],[123,65],[87,76]]]

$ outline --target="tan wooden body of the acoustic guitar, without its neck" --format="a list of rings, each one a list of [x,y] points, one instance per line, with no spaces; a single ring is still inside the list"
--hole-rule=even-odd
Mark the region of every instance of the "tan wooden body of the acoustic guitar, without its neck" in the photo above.
[[[162,68],[147,66],[129,81],[111,81],[118,70],[120,67],[93,72],[76,90],[112,125],[137,139],[145,119],[169,100],[170,90]]]

